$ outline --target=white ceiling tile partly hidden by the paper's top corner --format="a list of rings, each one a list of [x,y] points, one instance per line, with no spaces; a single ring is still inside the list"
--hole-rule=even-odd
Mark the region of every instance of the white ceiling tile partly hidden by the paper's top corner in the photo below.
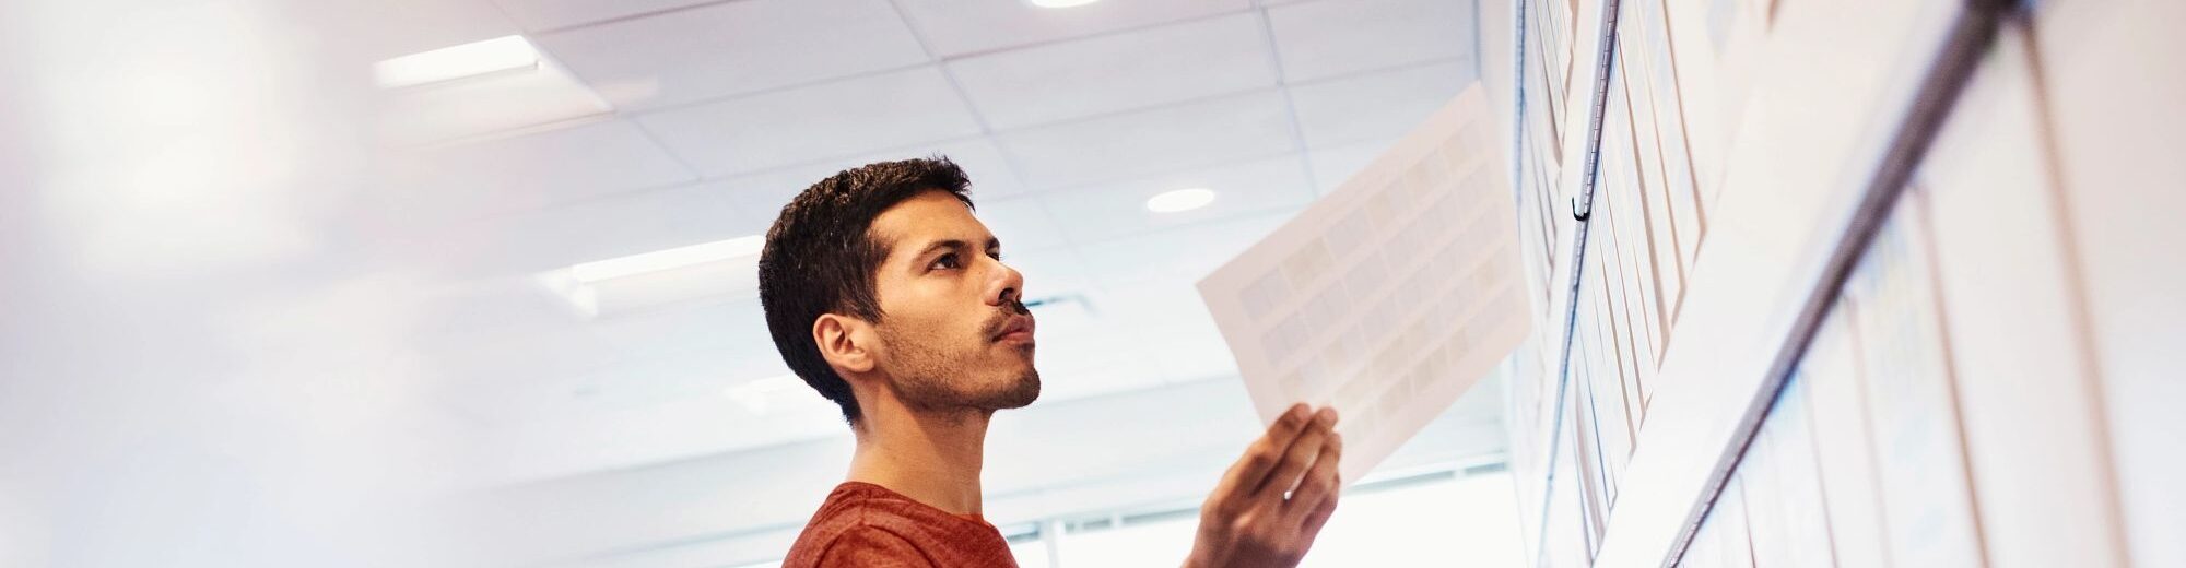
[[[1292,85],[1307,149],[1399,138],[1473,83],[1473,59]]]

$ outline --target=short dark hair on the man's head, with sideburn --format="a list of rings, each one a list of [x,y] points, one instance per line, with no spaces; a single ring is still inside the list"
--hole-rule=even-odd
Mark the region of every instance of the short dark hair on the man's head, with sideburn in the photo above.
[[[820,356],[813,321],[828,312],[881,321],[874,271],[892,242],[872,236],[872,218],[929,190],[973,205],[964,168],[942,155],[835,173],[783,205],[759,251],[759,306],[767,312],[774,350],[804,384],[842,406],[850,424],[859,419],[857,398]]]

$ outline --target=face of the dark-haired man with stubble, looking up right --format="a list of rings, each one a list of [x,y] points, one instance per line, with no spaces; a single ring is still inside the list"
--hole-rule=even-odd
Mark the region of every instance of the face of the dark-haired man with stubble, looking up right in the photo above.
[[[888,247],[874,275],[881,369],[905,404],[929,411],[1019,409],[1041,395],[1023,275],[1001,242],[942,190],[872,221]]]

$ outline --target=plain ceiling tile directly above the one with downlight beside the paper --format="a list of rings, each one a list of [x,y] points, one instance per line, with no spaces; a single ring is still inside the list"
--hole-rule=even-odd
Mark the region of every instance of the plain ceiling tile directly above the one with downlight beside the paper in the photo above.
[[[1032,190],[1183,170],[1296,149],[1283,94],[1253,92],[995,135]]]

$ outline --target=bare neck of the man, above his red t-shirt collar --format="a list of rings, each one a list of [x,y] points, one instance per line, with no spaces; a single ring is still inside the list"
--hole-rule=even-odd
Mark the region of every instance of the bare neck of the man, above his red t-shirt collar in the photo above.
[[[979,513],[986,411],[933,415],[909,409],[866,413],[857,424],[850,481],[888,487],[949,513]]]

